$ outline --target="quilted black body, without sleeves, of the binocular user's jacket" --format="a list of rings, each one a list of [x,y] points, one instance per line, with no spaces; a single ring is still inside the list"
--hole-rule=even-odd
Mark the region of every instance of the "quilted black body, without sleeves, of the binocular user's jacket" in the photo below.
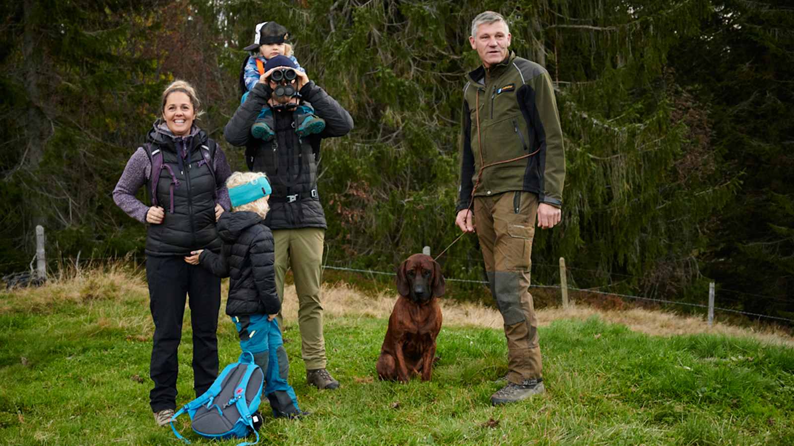
[[[292,113],[273,113],[276,137],[258,140],[250,166],[268,175],[273,192],[264,224],[270,229],[326,228],[317,191],[317,160],[310,138],[299,138]]]

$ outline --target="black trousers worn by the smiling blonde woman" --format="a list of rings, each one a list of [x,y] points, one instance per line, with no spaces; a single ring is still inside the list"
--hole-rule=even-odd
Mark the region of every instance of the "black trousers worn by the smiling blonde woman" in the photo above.
[[[182,340],[182,318],[186,296],[190,296],[193,329],[193,388],[203,394],[218,378],[218,310],[221,279],[201,265],[191,265],[181,256],[147,256],[146,280],[149,310],[154,320],[149,393],[153,412],[176,408],[176,351]]]

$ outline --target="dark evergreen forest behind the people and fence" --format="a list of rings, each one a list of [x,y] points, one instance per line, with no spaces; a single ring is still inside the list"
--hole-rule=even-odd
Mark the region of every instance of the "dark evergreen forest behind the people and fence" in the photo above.
[[[471,20],[502,13],[511,49],[555,81],[562,225],[538,231],[534,283],[794,317],[794,6],[784,0],[21,0],[0,6],[0,273],[48,258],[142,256],[111,190],[159,95],[193,83],[222,129],[253,27],[286,25],[310,79],[356,122],[322,147],[326,262],[392,271],[458,235],[457,141]],[[141,194],[141,197],[143,195]],[[481,279],[476,237],[440,261]],[[572,282],[571,282],[572,280]]]

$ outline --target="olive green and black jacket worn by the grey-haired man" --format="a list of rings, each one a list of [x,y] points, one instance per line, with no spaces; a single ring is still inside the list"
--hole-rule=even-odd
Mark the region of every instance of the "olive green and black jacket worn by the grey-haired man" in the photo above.
[[[565,150],[549,72],[511,52],[502,63],[469,73],[463,97],[457,210],[468,208],[483,166],[475,196],[526,190],[561,207]]]

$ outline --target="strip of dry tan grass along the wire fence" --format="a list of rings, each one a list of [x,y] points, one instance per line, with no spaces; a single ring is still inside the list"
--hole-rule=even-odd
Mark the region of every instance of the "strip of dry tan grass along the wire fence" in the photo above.
[[[223,300],[228,294],[229,281],[222,282],[221,295]],[[51,280],[37,288],[17,288],[6,291],[0,299],[0,313],[52,313],[64,303],[91,305],[95,301],[115,300],[118,302],[135,301],[141,306],[148,306],[148,289],[145,278],[140,270],[131,271],[128,267],[111,265],[102,270],[71,271]],[[297,320],[298,298],[295,286],[285,289],[286,299],[283,305],[284,319],[287,324]],[[387,318],[394,306],[396,295],[392,291],[384,291],[376,296],[364,294],[346,283],[323,285],[322,302],[326,317],[360,315]],[[221,306],[220,317],[225,317],[225,303]],[[473,325],[502,329],[502,317],[499,312],[473,303],[457,303],[441,299],[441,310],[444,313],[445,325]],[[135,329],[141,336],[150,335],[152,320],[146,314],[136,316],[106,317],[98,310],[98,327],[116,326]],[[748,329],[727,325],[720,322],[709,327],[703,318],[681,316],[660,310],[596,310],[586,306],[576,306],[563,310],[561,308],[545,308],[538,310],[541,325],[548,325],[557,319],[580,319],[597,316],[604,321],[626,325],[631,330],[647,333],[652,336],[675,336],[695,333],[715,333],[730,336],[749,336],[756,340],[771,344],[794,345],[794,338],[777,329]],[[113,320],[111,320],[113,319]],[[225,329],[226,325],[218,325]]]

